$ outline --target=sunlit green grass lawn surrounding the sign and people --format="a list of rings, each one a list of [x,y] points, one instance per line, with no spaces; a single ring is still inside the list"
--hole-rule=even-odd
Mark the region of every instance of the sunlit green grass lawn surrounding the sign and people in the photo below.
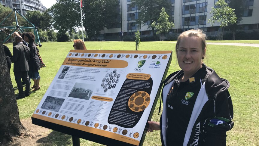
[[[141,42],[139,50],[173,50],[175,43],[169,42],[172,41]],[[259,44],[258,40],[251,42]],[[85,44],[87,49],[93,50],[135,49],[135,42],[85,42]],[[31,92],[29,97],[17,100],[21,119],[32,116],[69,50],[74,49],[72,45],[73,42],[42,43],[42,47],[39,48],[40,54],[47,67],[39,71],[41,89],[37,92]],[[12,52],[12,44],[8,44],[8,47]],[[205,63],[213,68],[221,78],[230,82],[229,92],[233,101],[233,121],[235,125],[231,131],[227,132],[227,145],[259,145],[259,48],[209,45]],[[179,70],[179,67],[173,51],[168,74],[177,70]],[[15,94],[18,94],[12,71],[11,79]],[[159,121],[161,113],[158,115],[158,108],[159,103],[156,106],[152,120]],[[52,134],[54,136],[49,137],[50,141],[53,141],[51,145],[72,145],[71,136],[63,135],[59,132],[52,132]],[[84,139],[80,139],[80,141],[81,145],[100,145]],[[160,132],[147,133],[143,145],[161,145]]]

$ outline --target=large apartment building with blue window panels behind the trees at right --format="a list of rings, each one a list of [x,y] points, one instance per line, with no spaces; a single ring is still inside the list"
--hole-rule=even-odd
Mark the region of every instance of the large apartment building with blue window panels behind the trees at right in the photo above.
[[[170,20],[175,24],[175,27],[170,33],[180,33],[182,31],[199,28],[205,32],[217,32],[219,30],[219,23],[208,23],[208,19],[212,17],[210,14],[212,7],[218,0],[170,0],[171,14]],[[134,35],[137,30],[141,31],[142,35],[151,35],[152,29],[148,28],[150,22],[145,25],[138,25],[136,20],[138,19],[139,9],[137,6],[131,5],[131,0],[120,0],[117,8],[117,19],[113,23],[112,27],[104,28],[101,34],[105,36],[118,36],[122,29],[124,35]],[[243,20],[239,23],[242,30],[259,30],[259,0],[244,0],[243,3]],[[120,18],[120,11],[122,12]],[[122,25],[121,25],[122,22]],[[122,28],[121,28],[122,26]],[[207,33],[207,35],[215,35],[215,33]]]

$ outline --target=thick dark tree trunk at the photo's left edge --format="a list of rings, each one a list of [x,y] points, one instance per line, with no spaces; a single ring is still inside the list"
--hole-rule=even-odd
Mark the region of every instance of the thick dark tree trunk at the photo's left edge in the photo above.
[[[0,144],[11,141],[17,135],[27,135],[20,122],[19,111],[4,48],[0,42]]]

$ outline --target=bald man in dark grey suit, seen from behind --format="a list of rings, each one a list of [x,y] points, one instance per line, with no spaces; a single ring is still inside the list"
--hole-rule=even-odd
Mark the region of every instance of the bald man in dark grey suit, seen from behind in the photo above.
[[[14,40],[17,42],[17,45],[13,47],[12,62],[14,63],[14,78],[19,90],[19,95],[16,98],[19,99],[30,95],[30,82],[28,76],[30,48],[23,44],[23,38],[21,36],[16,36]],[[23,92],[22,78],[26,85],[25,92]]]

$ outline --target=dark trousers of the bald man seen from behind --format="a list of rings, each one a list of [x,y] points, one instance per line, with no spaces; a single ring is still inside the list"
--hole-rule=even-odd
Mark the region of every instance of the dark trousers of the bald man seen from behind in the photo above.
[[[15,78],[15,82],[17,83],[19,97],[25,97],[25,95],[29,95],[30,81],[29,81],[28,71],[14,72],[14,78]],[[23,83],[21,79],[23,79],[23,82],[25,82],[25,85],[26,85],[25,92],[23,92]]]

